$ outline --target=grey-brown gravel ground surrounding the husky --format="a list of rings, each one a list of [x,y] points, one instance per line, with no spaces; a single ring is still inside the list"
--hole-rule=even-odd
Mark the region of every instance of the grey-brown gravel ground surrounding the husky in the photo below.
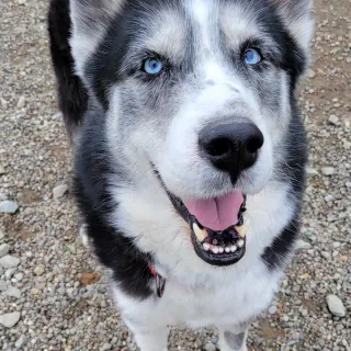
[[[13,212],[0,214],[0,347],[135,350],[77,237],[46,7],[0,2],[0,212]],[[315,15],[301,94],[310,150],[304,226],[280,293],[251,328],[252,351],[351,350],[351,2],[317,0]],[[170,349],[214,351],[216,341],[215,330],[177,328]]]

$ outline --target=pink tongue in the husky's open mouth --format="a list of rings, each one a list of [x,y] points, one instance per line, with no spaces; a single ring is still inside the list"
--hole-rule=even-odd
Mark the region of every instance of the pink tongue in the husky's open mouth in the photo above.
[[[224,230],[237,224],[242,202],[241,193],[231,192],[211,200],[184,201],[184,205],[204,227],[212,230]]]

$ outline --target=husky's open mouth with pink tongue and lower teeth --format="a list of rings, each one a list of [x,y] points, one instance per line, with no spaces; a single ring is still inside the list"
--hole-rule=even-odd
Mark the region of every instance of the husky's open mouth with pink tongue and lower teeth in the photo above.
[[[237,263],[246,252],[246,196],[231,192],[212,200],[183,202],[169,193],[177,212],[191,228],[196,254],[213,265]]]

